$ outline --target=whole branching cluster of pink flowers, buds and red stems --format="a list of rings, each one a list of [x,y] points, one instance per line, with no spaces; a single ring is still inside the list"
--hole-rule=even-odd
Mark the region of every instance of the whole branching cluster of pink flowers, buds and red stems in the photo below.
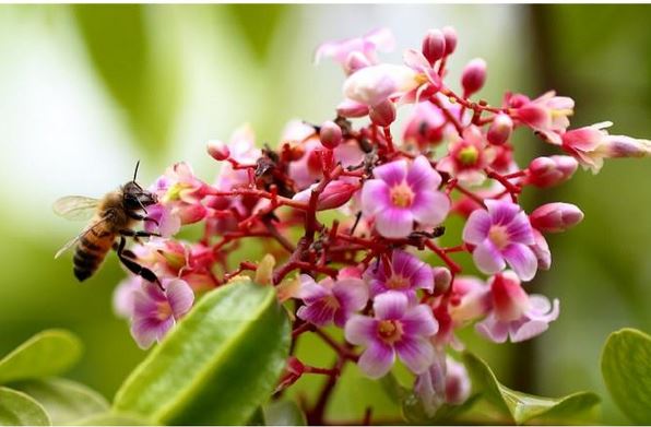
[[[394,44],[381,29],[322,45],[317,60],[331,58],[345,74],[334,119],[292,122],[275,149],[258,147],[244,127],[229,143],[209,142],[221,165],[212,183],[180,163],[151,187],[159,204],[149,212],[157,224],[147,227],[163,237],[133,253],[165,290],[143,290],[140,278],[129,277],[116,296],[141,346],[161,340],[202,292],[256,271],[277,287],[293,339],[316,334],[338,355],[324,368],[293,354],[279,390],[306,373],[335,378],[345,363],[379,378],[400,360],[434,413],[469,392],[463,366],[448,355],[463,347],[458,329],[474,324],[493,342],[520,342],[558,317],[558,300],[530,295],[526,282],[551,266],[545,236],[583,214],[569,203],[528,213],[522,191],[560,185],[579,165],[596,173],[606,157],[649,156],[651,143],[609,135],[609,123],[568,129],[573,100],[554,92],[534,99],[507,93],[501,106],[473,100],[486,82],[482,59],[467,63],[455,92],[445,82],[457,48],[451,27],[427,32],[402,64],[380,62],[377,52]],[[410,104],[394,138],[398,111]],[[352,118],[367,120],[355,127]],[[518,129],[565,154],[521,168],[511,143]],[[458,245],[445,247],[439,237],[450,216],[464,225]],[[173,237],[192,223],[203,225],[198,241]],[[271,257],[247,259],[240,247],[251,239]],[[463,271],[462,257],[476,269]],[[323,330],[329,325],[341,328],[344,340]],[[315,411],[322,407],[310,419],[322,423]]]

